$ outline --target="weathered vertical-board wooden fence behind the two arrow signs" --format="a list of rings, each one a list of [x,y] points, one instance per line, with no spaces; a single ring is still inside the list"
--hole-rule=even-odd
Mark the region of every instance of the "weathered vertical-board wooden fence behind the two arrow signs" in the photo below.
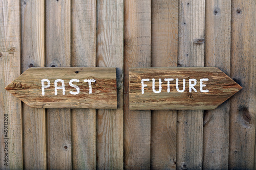
[[[255,0],[1,0],[0,168],[255,168],[255,11]],[[63,66],[117,67],[118,109],[32,109],[4,89],[29,67]],[[177,66],[217,66],[243,89],[215,110],[129,110],[129,67]]]

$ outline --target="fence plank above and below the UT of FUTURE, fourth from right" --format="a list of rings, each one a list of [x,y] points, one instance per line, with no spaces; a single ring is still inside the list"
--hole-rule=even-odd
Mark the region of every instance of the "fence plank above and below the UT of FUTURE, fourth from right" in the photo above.
[[[152,67],[176,67],[178,1],[152,1]],[[151,117],[151,168],[176,169],[176,110],[154,110]]]

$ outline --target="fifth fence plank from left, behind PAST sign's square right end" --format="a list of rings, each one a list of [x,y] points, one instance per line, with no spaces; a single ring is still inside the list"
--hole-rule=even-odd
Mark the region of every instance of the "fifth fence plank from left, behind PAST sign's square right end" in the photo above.
[[[117,68],[117,109],[97,113],[97,169],[123,169],[123,1],[97,2],[97,66]]]

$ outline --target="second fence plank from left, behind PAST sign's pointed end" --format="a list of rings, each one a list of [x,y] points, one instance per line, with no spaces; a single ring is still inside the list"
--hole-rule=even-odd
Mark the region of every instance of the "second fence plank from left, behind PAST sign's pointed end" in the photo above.
[[[45,66],[45,2],[22,1],[22,71]],[[24,168],[47,169],[46,111],[23,104]]]

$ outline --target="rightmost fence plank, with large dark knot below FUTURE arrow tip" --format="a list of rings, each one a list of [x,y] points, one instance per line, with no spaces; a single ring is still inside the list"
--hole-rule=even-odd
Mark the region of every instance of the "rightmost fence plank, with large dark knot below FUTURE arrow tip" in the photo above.
[[[256,2],[231,6],[231,78],[243,89],[230,99],[229,168],[252,169],[254,161],[256,83]]]

